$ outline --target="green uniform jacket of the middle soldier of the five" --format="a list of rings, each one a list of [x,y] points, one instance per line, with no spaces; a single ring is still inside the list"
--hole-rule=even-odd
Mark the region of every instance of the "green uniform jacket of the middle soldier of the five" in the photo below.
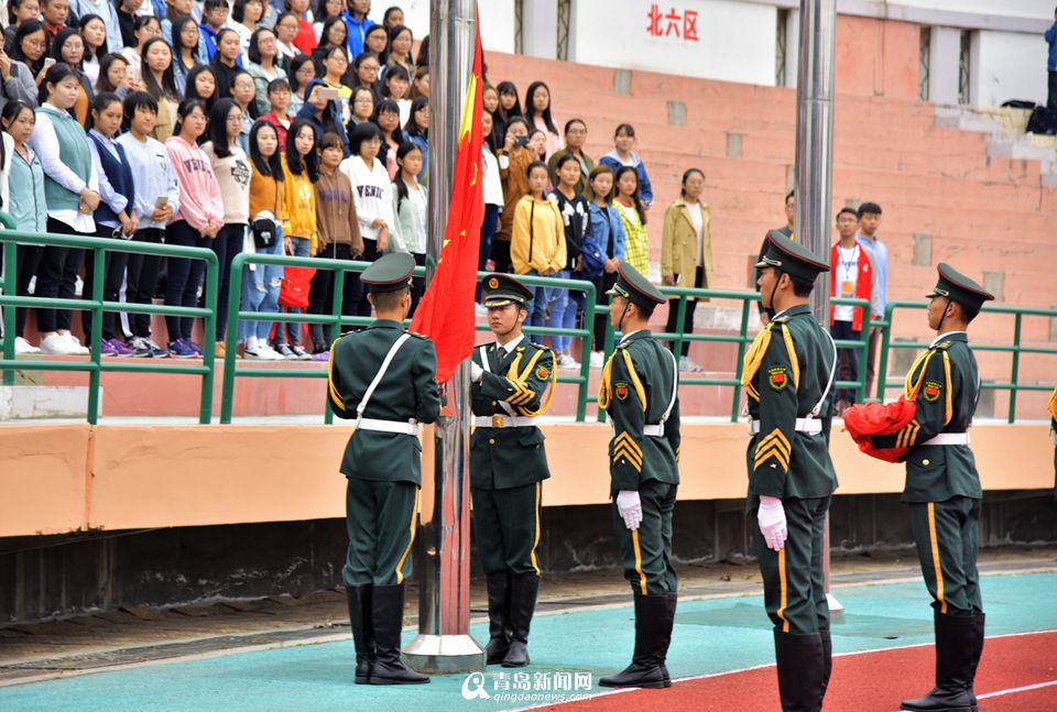
[[[602,371],[598,403],[609,413],[613,426],[609,441],[610,494],[638,490],[649,480],[678,484],[678,369],[672,352],[647,329],[628,335],[617,346]],[[658,425],[669,404],[664,435],[645,435],[644,428]]]

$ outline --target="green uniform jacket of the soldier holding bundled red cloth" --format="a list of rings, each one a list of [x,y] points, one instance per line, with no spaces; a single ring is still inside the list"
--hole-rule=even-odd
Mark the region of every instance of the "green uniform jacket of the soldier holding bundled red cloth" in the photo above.
[[[967,445],[922,445],[940,432],[966,432],[980,397],[977,359],[965,331],[941,335],[923,352],[906,377],[904,397],[917,413],[902,430],[873,436],[878,448],[907,447],[903,502],[980,499],[980,475]]]

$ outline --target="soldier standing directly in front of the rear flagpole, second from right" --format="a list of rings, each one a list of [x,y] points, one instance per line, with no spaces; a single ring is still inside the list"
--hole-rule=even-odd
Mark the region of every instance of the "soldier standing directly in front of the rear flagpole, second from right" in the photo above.
[[[808,299],[829,265],[799,243],[772,237],[755,266],[763,306],[775,316],[752,342],[742,370],[752,418],[747,505],[763,535],[756,555],[774,623],[782,709],[815,711],[831,669],[822,560],[826,514],[837,489],[827,402],[837,349]]]

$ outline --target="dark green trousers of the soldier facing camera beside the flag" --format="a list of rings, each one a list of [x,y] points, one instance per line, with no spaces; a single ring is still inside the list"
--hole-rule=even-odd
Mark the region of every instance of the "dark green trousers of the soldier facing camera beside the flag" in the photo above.
[[[473,528],[481,568],[486,574],[542,573],[540,557],[540,512],[543,482],[506,490],[470,488]]]

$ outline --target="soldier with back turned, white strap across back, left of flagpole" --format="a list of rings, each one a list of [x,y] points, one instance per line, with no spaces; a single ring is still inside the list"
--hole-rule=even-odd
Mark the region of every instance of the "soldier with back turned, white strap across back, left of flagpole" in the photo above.
[[[410,254],[386,254],[363,271],[377,319],[330,349],[330,407],[356,420],[341,459],[348,478],[349,551],[342,578],[356,643],[357,684],[407,684],[429,678],[400,659],[404,581],[422,484],[419,425],[440,413],[433,342],[402,324],[411,309]]]

